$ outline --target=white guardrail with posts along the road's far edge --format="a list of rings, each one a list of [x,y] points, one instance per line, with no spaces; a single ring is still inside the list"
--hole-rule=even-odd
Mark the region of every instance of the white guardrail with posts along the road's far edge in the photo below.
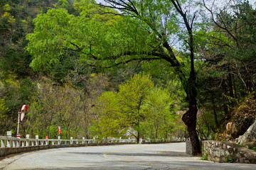
[[[178,138],[171,137],[168,140],[151,140],[151,139],[140,139],[139,143],[151,143],[151,142],[181,142],[186,141],[188,138]],[[135,139],[108,139],[108,140],[86,140],[85,137],[82,137],[82,140],[73,140],[73,137],[70,137],[70,140],[61,140],[61,139],[29,139],[29,138],[18,138],[18,137],[9,137],[9,136],[0,136],[1,148],[8,147],[33,147],[33,146],[44,146],[44,145],[73,145],[73,144],[90,144],[90,143],[123,143],[123,142],[133,142]]]

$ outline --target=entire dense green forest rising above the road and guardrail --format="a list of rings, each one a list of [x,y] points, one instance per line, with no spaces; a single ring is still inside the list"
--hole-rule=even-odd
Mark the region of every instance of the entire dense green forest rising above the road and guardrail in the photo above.
[[[26,104],[22,137],[190,137],[197,154],[256,117],[252,1],[2,0],[0,34],[0,135]]]

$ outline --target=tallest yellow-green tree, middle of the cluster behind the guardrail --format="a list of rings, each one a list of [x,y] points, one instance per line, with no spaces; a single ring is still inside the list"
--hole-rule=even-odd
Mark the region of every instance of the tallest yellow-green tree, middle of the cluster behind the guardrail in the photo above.
[[[132,79],[119,85],[118,98],[122,106],[123,119],[126,120],[127,127],[131,127],[137,131],[137,134],[132,134],[134,137],[141,137],[141,123],[149,116],[144,105],[146,104],[146,96],[154,87],[149,75],[135,74]]]

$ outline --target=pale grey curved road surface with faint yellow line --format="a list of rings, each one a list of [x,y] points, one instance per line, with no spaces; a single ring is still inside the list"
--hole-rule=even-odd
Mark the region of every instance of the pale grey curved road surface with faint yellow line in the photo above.
[[[0,169],[256,169],[185,154],[185,143],[68,147],[28,152],[0,161]]]

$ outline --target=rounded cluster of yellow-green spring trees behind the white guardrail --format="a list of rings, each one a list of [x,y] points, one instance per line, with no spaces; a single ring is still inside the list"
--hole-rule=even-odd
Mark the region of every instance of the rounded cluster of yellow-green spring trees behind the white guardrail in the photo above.
[[[129,135],[137,139],[163,137],[170,124],[175,123],[171,103],[174,98],[166,89],[154,86],[149,74],[135,74],[119,85],[118,92],[107,91],[98,98],[96,112],[101,135],[119,136],[132,128],[139,133]]]

